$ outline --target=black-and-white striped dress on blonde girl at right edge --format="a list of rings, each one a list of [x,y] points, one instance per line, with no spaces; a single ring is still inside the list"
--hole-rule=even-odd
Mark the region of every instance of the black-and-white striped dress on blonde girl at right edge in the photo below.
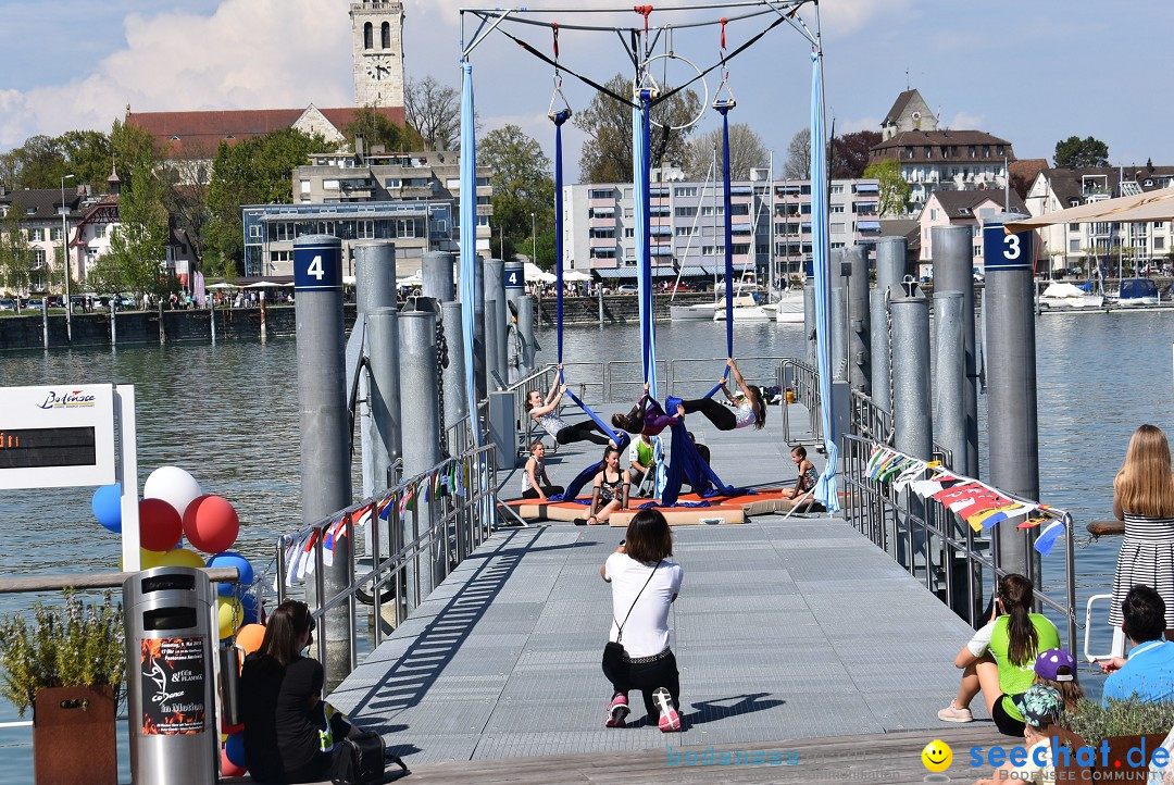
[[[1125,514],[1125,537],[1113,575],[1108,623],[1121,625],[1121,603],[1134,586],[1156,589],[1166,602],[1166,629],[1174,629],[1174,517]]]

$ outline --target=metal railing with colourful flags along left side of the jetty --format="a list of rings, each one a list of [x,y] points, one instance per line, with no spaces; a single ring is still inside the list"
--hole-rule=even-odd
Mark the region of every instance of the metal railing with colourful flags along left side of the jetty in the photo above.
[[[459,425],[459,424],[458,424]],[[357,602],[360,595],[370,590],[375,605],[375,632],[372,649],[383,643],[383,607],[393,605],[393,624],[399,625],[420,601],[425,593],[421,584],[433,587],[446,578],[465,557],[475,550],[490,536],[493,529],[494,507],[497,505],[497,466],[495,447],[485,445],[470,448],[451,459],[433,466],[411,478],[406,478],[387,490],[338,510],[301,530],[284,535],[277,541],[277,601],[284,601],[289,594],[286,575],[291,564],[286,563],[286,550],[295,543],[305,542],[312,536],[315,602],[312,616],[323,622],[326,614],[346,604],[346,618],[350,642],[350,670],[358,666],[357,647]],[[459,478],[456,483],[445,482],[445,492],[437,493],[436,479]],[[425,490],[427,488],[427,492]],[[421,514],[418,500],[426,494],[426,519]],[[412,499],[417,503],[412,503]],[[356,574],[355,517],[366,515],[370,529],[371,568]],[[380,512],[386,510],[386,520]],[[411,532],[417,533],[410,542],[404,542],[394,553],[386,556],[379,553],[380,539],[397,543],[402,520],[410,520]],[[328,529],[342,525],[344,536],[349,537],[350,563],[346,575],[349,582],[333,596],[326,597],[324,540]],[[384,535],[380,537],[380,535]],[[393,546],[394,547],[394,546]],[[296,567],[296,564],[294,564]],[[409,576],[413,575],[414,581]],[[429,575],[429,578],[421,576]],[[318,637],[318,661],[329,670],[326,656],[328,636]],[[326,674],[323,689],[332,683],[332,675]]]

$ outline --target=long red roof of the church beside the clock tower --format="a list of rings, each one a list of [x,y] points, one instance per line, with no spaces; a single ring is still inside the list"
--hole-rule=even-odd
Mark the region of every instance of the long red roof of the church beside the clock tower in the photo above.
[[[342,133],[355,120],[355,107],[318,109]],[[380,115],[403,126],[403,107],[382,107]],[[212,157],[221,142],[235,144],[290,128],[305,109],[234,109],[227,111],[136,111],[127,113],[126,123],[148,131],[155,144],[168,146],[168,157]]]

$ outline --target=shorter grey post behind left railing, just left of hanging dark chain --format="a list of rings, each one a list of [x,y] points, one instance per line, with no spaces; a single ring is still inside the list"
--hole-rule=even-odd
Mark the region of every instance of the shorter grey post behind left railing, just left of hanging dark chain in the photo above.
[[[432,311],[404,311],[399,314],[400,387],[411,391],[400,398],[403,413],[404,476],[426,472],[440,462],[439,399],[437,378],[436,314]],[[439,502],[417,496],[414,514],[404,517],[404,542],[411,542],[432,525]],[[417,587],[420,600],[444,577],[447,543],[440,542],[407,573],[409,611],[414,608]]]

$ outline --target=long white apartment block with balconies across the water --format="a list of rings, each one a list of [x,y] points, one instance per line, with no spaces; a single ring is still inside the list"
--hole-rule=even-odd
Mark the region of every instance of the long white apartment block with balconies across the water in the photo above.
[[[721,184],[684,181],[674,171],[654,172],[654,180],[653,275],[675,277],[679,269],[684,278],[721,275],[726,264]],[[876,180],[837,180],[830,190],[832,248],[879,237]],[[753,170],[750,180],[730,183],[730,211],[735,270],[756,272],[762,280],[804,271],[811,258],[809,181],[771,181],[768,170]],[[564,269],[634,280],[634,212],[632,183],[565,185]]]

